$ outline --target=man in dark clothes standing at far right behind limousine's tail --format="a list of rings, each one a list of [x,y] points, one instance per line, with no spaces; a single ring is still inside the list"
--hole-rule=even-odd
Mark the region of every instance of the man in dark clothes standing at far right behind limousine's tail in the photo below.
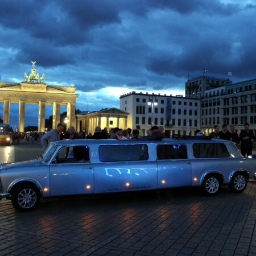
[[[242,130],[240,133],[240,141],[241,141],[241,154],[245,156],[251,155],[253,142],[255,141],[255,137],[253,131],[249,130],[249,123],[245,123],[245,130]]]

